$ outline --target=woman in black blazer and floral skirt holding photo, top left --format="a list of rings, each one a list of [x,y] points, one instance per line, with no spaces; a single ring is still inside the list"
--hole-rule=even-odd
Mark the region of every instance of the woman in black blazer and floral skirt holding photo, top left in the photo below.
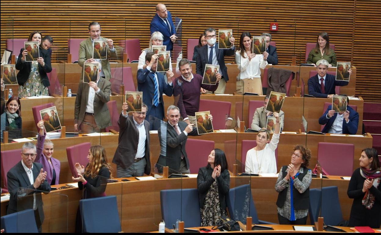
[[[38,42],[41,45],[42,35],[38,31],[33,31],[28,38],[28,42]],[[27,50],[21,49],[16,62],[17,82],[19,83],[19,97],[47,96],[48,86],[50,86],[48,75],[51,72],[50,54],[47,50],[39,50],[40,57],[37,61],[26,62]]]

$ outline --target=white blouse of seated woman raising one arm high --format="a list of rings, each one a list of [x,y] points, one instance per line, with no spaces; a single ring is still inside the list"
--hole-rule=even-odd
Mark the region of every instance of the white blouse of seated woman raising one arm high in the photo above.
[[[279,136],[280,134],[273,134],[270,143],[266,144],[262,150],[256,151],[253,148],[247,151],[245,161],[246,173],[277,173],[275,149],[278,147]]]

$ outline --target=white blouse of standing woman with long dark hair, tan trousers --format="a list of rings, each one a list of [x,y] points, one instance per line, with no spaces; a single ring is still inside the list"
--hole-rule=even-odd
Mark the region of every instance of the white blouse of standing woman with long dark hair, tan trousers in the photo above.
[[[260,69],[264,69],[268,64],[267,61],[263,60],[263,54],[257,54],[254,58],[251,58],[250,61],[246,51],[245,56],[246,58],[241,56],[241,51],[235,52],[235,63],[240,70],[240,73],[237,76],[237,80],[246,78],[260,78]]]

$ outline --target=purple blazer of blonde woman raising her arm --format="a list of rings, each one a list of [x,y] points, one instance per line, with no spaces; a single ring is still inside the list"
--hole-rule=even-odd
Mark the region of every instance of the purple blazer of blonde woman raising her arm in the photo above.
[[[51,161],[51,164],[53,165],[53,168],[52,168],[50,163],[48,162],[48,159],[42,153],[45,137],[46,135],[41,136],[40,133],[38,133],[37,146],[36,146],[37,156],[34,161],[42,164],[42,168],[44,169],[44,171],[46,171],[46,181],[48,181],[49,185],[51,184],[51,181],[53,180],[53,168],[54,168],[54,170],[56,171],[56,182],[54,183],[54,185],[56,185],[58,184],[58,181],[59,181],[59,170],[61,168],[61,163],[56,158],[51,157],[50,161]]]

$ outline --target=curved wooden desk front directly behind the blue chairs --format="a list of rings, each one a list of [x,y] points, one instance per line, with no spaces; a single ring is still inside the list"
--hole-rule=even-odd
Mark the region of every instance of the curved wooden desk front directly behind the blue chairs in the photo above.
[[[197,187],[197,179],[157,179],[136,181],[133,178],[127,182],[109,183],[106,195],[116,195],[118,211],[121,218],[122,231],[147,232],[158,230],[162,219],[160,210],[160,190],[189,189]],[[278,222],[276,199],[278,193],[274,189],[276,177],[231,177],[231,187],[250,184],[251,193],[257,209],[258,217],[269,222]],[[71,182],[71,181],[70,181]],[[339,201],[343,219],[348,220],[352,200],[346,195],[349,181],[341,179],[312,179],[310,188],[320,188],[336,185],[339,190]],[[62,185],[58,185],[57,188]],[[58,195],[59,194],[59,195]],[[67,196],[67,197],[66,197]],[[75,216],[78,201],[82,193],[76,188],[55,190],[42,195],[44,202],[45,221],[43,232],[74,232]],[[1,203],[1,216],[5,214],[6,201]],[[309,221],[307,221],[309,224]]]

